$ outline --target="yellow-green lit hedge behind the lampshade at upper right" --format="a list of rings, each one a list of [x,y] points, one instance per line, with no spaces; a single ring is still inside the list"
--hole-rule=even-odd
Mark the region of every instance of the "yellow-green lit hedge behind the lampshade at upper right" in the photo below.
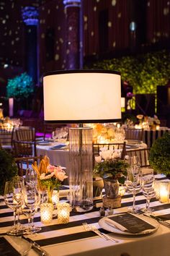
[[[156,93],[157,85],[166,85],[170,74],[169,51],[98,61],[93,69],[117,70],[123,81],[133,86],[133,93]]]

